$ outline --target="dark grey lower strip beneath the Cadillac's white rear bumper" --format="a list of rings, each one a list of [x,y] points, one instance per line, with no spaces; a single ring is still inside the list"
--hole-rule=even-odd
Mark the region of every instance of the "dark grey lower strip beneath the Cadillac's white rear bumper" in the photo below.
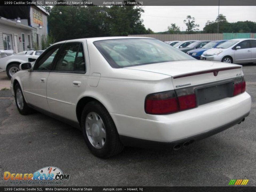
[[[133,138],[133,137],[127,137],[127,136],[123,136],[123,135],[120,135],[120,140],[123,143],[123,145],[125,145],[125,146],[155,148],[155,149],[173,148],[173,147],[178,146],[178,145],[182,146],[186,142],[193,143],[194,141],[199,141],[201,139],[210,137],[211,135],[215,135],[215,134],[217,134],[221,131],[224,131],[224,130],[240,123],[248,115],[249,115],[249,113],[247,113],[246,115],[243,115],[242,117],[240,117],[240,118],[238,118],[238,119],[236,119],[236,120],[234,120],[230,123],[227,123],[226,125],[223,125],[221,127],[217,127],[215,129],[212,129],[212,130],[207,131],[205,133],[194,135],[192,137],[188,137],[188,138],[181,139],[181,140],[174,141],[174,142],[150,141],[150,140],[145,140],[145,139],[137,139],[137,138]]]

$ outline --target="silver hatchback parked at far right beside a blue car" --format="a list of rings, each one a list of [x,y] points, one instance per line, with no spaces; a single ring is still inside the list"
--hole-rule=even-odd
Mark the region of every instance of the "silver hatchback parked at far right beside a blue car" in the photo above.
[[[226,63],[256,62],[256,39],[232,39],[209,49],[201,55],[202,60]]]

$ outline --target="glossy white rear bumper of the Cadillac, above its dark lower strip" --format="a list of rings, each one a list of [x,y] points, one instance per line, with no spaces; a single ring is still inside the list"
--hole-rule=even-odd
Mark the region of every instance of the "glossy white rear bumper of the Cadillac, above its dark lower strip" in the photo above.
[[[221,131],[225,129],[223,127],[233,126],[246,117],[250,109],[251,96],[245,92],[178,113],[149,115],[147,119],[110,114],[121,138],[177,143],[215,129]]]

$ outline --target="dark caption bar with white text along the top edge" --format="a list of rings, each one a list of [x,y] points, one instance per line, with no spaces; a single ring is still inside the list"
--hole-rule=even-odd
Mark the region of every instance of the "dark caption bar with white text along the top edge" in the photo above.
[[[255,0],[2,0],[0,5],[11,6],[112,6],[112,5],[142,5],[142,6],[256,6]]]

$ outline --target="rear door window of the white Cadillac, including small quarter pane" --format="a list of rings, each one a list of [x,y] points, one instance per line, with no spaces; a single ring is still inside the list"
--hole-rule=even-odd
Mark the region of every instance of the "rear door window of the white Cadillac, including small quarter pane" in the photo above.
[[[54,71],[85,72],[82,43],[67,43],[60,53]]]

